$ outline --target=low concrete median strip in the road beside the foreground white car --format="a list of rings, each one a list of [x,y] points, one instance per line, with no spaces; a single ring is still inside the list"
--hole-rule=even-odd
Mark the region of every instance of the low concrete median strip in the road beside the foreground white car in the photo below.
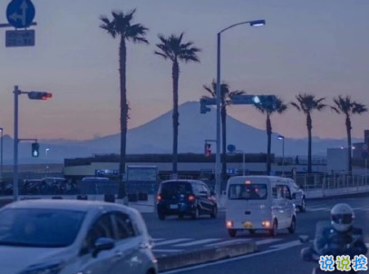
[[[203,250],[189,250],[176,254],[157,256],[159,271],[180,269],[218,259],[228,259],[257,251],[254,240],[236,242]]]

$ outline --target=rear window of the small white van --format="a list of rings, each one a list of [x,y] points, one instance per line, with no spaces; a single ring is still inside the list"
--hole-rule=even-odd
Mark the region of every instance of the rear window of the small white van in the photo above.
[[[228,190],[229,200],[265,200],[267,185],[265,184],[232,184]]]

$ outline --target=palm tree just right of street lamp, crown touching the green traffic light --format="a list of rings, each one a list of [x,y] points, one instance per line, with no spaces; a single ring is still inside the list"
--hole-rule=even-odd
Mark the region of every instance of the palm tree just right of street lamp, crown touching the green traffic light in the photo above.
[[[267,175],[270,174],[270,152],[272,147],[272,122],[270,116],[273,113],[282,114],[286,112],[287,105],[283,103],[282,99],[276,97],[274,103],[257,103],[254,104],[260,113],[267,115]]]

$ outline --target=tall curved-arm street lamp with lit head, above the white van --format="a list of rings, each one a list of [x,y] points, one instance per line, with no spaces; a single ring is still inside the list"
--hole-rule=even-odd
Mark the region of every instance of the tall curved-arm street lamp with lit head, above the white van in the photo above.
[[[250,26],[265,25],[265,20],[253,20],[240,22],[238,24],[231,24],[228,27],[222,29],[217,34],[217,153],[215,157],[215,185],[217,196],[220,197],[220,35],[228,29],[237,26],[239,24],[249,24]]]

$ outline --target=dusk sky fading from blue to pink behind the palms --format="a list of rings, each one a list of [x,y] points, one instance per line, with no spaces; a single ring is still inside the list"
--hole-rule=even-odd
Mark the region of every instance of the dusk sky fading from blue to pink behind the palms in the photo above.
[[[0,1],[6,23],[10,0]],[[217,33],[222,34],[222,80],[232,90],[276,94],[286,103],[297,93],[332,98],[350,94],[369,105],[369,1],[365,0],[34,0],[34,47],[5,47],[0,35],[0,127],[13,136],[15,84],[23,91],[50,91],[48,101],[19,97],[20,138],[91,139],[120,131],[119,40],[104,32],[100,15],[137,8],[134,23],[150,30],[151,44],[129,44],[129,128],[170,111],[171,65],[154,55],[158,34],[180,34],[202,49],[199,64],[180,64],[180,103],[199,101],[216,78]],[[231,106],[234,118],[265,129],[265,116],[250,105]],[[182,117],[180,116],[180,119]],[[273,130],[306,137],[303,113],[290,108],[272,117]],[[363,138],[369,113],[352,118]],[[168,124],[171,127],[171,123]],[[153,132],[158,134],[159,132]],[[215,133],[215,122],[214,122]],[[313,114],[313,135],[345,138],[345,117],[330,110]]]

